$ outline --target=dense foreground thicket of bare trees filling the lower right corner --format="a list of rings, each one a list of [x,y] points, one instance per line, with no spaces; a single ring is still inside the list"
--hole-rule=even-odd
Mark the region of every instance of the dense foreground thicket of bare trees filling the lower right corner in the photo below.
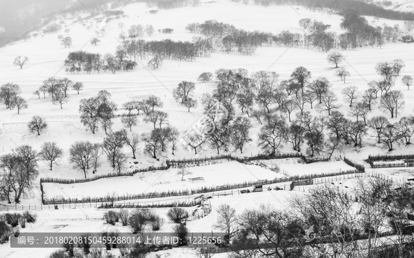
[[[413,197],[405,183],[360,178],[351,190],[324,185],[290,197],[284,211],[262,204],[237,214],[221,204],[215,227],[230,239],[234,258],[404,257],[412,241],[406,214],[414,212]],[[381,240],[384,233],[393,235],[389,246]]]

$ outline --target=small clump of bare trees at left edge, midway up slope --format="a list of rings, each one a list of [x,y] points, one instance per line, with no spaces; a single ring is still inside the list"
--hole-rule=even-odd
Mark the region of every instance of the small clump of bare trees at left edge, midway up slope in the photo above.
[[[0,87],[0,102],[6,105],[6,109],[17,108],[17,114],[20,114],[21,109],[28,108],[27,101],[19,96],[21,89],[19,85],[14,83],[6,83]]]

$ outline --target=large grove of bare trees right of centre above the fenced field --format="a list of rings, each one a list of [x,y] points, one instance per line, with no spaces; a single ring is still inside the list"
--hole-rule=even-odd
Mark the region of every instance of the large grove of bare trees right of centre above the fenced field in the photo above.
[[[344,99],[349,103],[348,115],[355,120],[348,119],[337,111],[338,98],[331,91],[331,83],[324,77],[311,80],[311,72],[305,67],[297,67],[290,79],[282,80],[280,83],[279,75],[275,72],[259,71],[249,77],[246,69],[219,69],[215,72],[215,78],[218,80],[217,89],[213,95],[204,94],[201,103],[206,114],[210,114],[213,103],[220,103],[228,111],[228,116],[219,120],[211,116],[215,124],[214,133],[207,137],[195,134],[192,142],[197,144],[191,143],[188,146],[197,153],[197,149],[201,149],[203,144],[208,144],[210,140],[213,141],[211,146],[219,153],[220,149],[227,149],[231,136],[237,136],[235,140],[246,144],[250,139],[248,118],[235,120],[238,124],[242,119],[246,119],[242,134],[246,138],[240,138],[239,133],[228,130],[233,125],[234,105],[237,104],[242,113],[249,118],[255,118],[263,125],[257,144],[268,153],[276,153],[277,149],[286,143],[292,144],[294,150],[301,151],[302,143],[306,142],[306,151],[311,157],[324,153],[331,158],[333,152],[342,144],[352,143],[355,147],[361,147],[362,138],[367,135],[368,130],[378,133],[379,142],[383,142],[391,151],[393,142],[405,140],[405,143],[409,144],[413,133],[413,118],[404,117],[391,126],[386,118],[382,117],[380,119],[385,122],[382,127],[376,127],[375,121],[379,118],[368,120],[368,114],[378,100],[380,109],[389,112],[391,118],[396,117],[398,111],[404,107],[402,92],[391,90],[397,74],[400,74],[403,67],[404,63],[398,59],[378,63],[375,69],[383,77],[382,80],[369,83],[369,89],[363,94],[360,94],[355,86],[343,89]],[[177,98],[184,100],[185,96],[181,94]],[[306,107],[326,111],[328,116],[312,116],[306,111]],[[291,114],[295,113],[296,118],[293,120]],[[286,122],[285,117],[290,124]],[[216,133],[218,136],[215,136]],[[238,149],[242,151],[242,147]]]

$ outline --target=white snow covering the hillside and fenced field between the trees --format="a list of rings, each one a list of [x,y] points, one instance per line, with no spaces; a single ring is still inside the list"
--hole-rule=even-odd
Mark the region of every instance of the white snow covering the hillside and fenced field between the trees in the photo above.
[[[202,72],[215,72],[219,68],[235,69],[245,68],[248,72],[257,72],[259,70],[266,70],[277,72],[280,74],[280,80],[290,78],[293,69],[298,66],[304,66],[312,72],[312,78],[324,76],[333,83],[333,92],[338,96],[339,103],[342,105],[341,110],[347,113],[348,103],[342,100],[341,91],[348,85],[355,85],[359,92],[363,92],[368,88],[367,83],[371,80],[378,80],[380,76],[375,73],[374,66],[380,61],[393,61],[400,58],[406,64],[402,76],[413,76],[414,71],[414,47],[413,44],[404,43],[386,43],[380,50],[379,47],[362,47],[356,50],[342,51],[337,50],[346,58],[346,62],[342,67],[351,72],[351,76],[347,78],[347,83],[344,83],[333,74],[335,69],[326,61],[326,52],[319,52],[317,50],[307,50],[295,47],[259,47],[255,54],[251,56],[244,56],[238,53],[226,54],[224,52],[215,52],[208,58],[197,58],[192,62],[184,61],[164,61],[164,65],[157,70],[150,72],[143,66],[148,62],[147,60],[140,61],[137,68],[129,72],[117,72],[111,74],[110,72],[101,72],[97,74],[66,74],[63,68],[63,61],[68,52],[76,50],[84,50],[88,52],[97,52],[99,54],[113,53],[117,45],[120,45],[117,36],[121,30],[117,27],[117,23],[125,23],[125,28],[129,28],[132,24],[152,24],[156,33],[150,37],[146,36],[146,40],[160,40],[172,39],[190,41],[195,34],[185,30],[188,23],[202,23],[209,19],[216,19],[224,23],[235,25],[236,28],[241,28],[248,31],[262,30],[265,32],[279,33],[282,30],[290,30],[290,32],[303,33],[299,28],[298,21],[303,18],[315,18],[318,21],[330,24],[329,31],[342,33],[339,27],[341,17],[332,15],[331,17],[322,12],[311,12],[302,7],[294,6],[295,10],[290,6],[269,6],[264,8],[262,6],[248,5],[244,6],[242,3],[233,3],[230,1],[218,1],[217,3],[202,3],[197,7],[177,8],[172,10],[160,10],[157,14],[149,14],[148,8],[144,3],[132,3],[123,8],[125,14],[129,18],[119,19],[108,22],[109,32],[99,39],[101,42],[98,45],[91,45],[88,41],[95,36],[91,31],[88,32],[82,25],[70,25],[70,34],[73,45],[70,48],[64,48],[60,45],[57,35],[64,34],[59,32],[57,34],[46,34],[43,38],[30,39],[27,42],[19,41],[12,45],[0,48],[0,85],[4,83],[16,83],[20,85],[21,96],[28,100],[28,109],[21,110],[21,114],[17,115],[15,109],[5,109],[3,104],[0,106],[0,126],[2,125],[4,135],[0,131],[0,155],[10,153],[11,150],[21,144],[30,144],[34,149],[39,150],[43,142],[54,141],[59,147],[63,149],[63,158],[59,160],[58,164],[54,165],[53,170],[49,171],[46,162],[39,162],[39,178],[83,178],[83,172],[76,171],[69,163],[69,148],[70,145],[79,140],[89,140],[91,142],[102,142],[105,137],[103,131],[98,131],[95,134],[85,130],[81,125],[79,119],[79,101],[82,98],[90,98],[96,96],[101,89],[106,89],[112,94],[112,100],[121,107],[122,103],[130,100],[140,100],[152,94],[159,96],[164,102],[164,107],[161,109],[167,111],[169,115],[170,125],[177,127],[182,134],[190,129],[194,123],[201,118],[203,109],[201,105],[197,109],[188,112],[185,107],[176,103],[172,98],[172,89],[177,87],[182,80],[189,80],[196,83],[195,96],[199,101],[201,94],[212,92],[214,83],[199,83],[197,77]],[[70,24],[72,20],[66,19],[66,23]],[[374,25],[382,25],[388,23],[390,25],[400,24],[402,21],[388,21],[380,19],[374,21]],[[173,34],[159,34],[158,29],[172,28]],[[125,30],[125,29],[124,29]],[[28,56],[30,62],[28,65],[19,69],[19,67],[12,66],[12,62],[16,56]],[[85,88],[79,95],[76,92],[69,92],[69,100],[67,104],[60,109],[58,105],[52,105],[50,96],[40,99],[34,96],[32,92],[42,85],[43,80],[55,76],[56,78],[70,78],[74,82],[83,82]],[[400,89],[404,93],[406,105],[401,109],[399,117],[406,116],[413,113],[414,109],[414,91],[407,91],[400,81],[397,80],[395,89]],[[317,109],[311,110],[313,114],[319,114]],[[120,111],[119,114],[122,112]],[[26,123],[34,115],[43,116],[48,122],[48,131],[42,133],[41,136],[36,136],[28,132]],[[372,116],[383,115],[377,107],[373,109],[370,114]],[[388,117],[388,114],[386,114]],[[389,119],[389,118],[388,118]],[[399,118],[389,119],[391,122],[396,122]],[[2,124],[1,124],[2,122]],[[113,120],[114,125],[112,129],[122,129],[120,118]],[[262,125],[259,125],[256,120],[252,120],[253,128],[251,136],[253,142],[250,142],[244,153],[234,151],[232,155],[256,155],[261,150],[256,146],[257,132]],[[0,127],[1,129],[1,127]],[[144,133],[152,129],[152,125],[143,122],[142,117],[139,117],[139,125],[133,127],[132,131],[135,133]],[[341,151],[337,151],[335,155],[346,154],[347,158],[363,163],[368,155],[387,153],[388,149],[376,144],[375,136],[367,136],[363,140],[362,148],[356,149],[353,147],[345,147]],[[286,144],[282,152],[293,152],[290,144]],[[154,160],[143,154],[142,146],[137,155],[137,160],[133,160],[130,150],[124,148],[124,152],[128,155],[128,168],[131,171],[136,168],[144,168],[148,166],[159,166],[160,161]],[[414,153],[414,147],[397,147],[394,153]],[[175,155],[166,153],[167,158],[194,158],[194,153],[188,152],[184,147],[179,146]],[[201,153],[201,157],[210,157],[217,155],[217,151],[206,150]],[[132,163],[139,162],[138,164]],[[82,184],[43,184],[44,191],[48,198],[59,196],[82,197],[91,196],[99,197],[112,193],[123,195],[124,193],[143,193],[154,191],[168,191],[175,189],[192,189],[201,186],[215,186],[221,184],[233,184],[238,182],[274,179],[285,175],[306,175],[310,173],[329,173],[339,172],[353,169],[342,161],[322,162],[313,164],[303,164],[299,159],[283,159],[283,160],[264,160],[262,161],[268,166],[276,164],[279,166],[280,173],[264,169],[259,166],[244,165],[238,162],[226,162],[222,164],[214,164],[208,166],[197,166],[190,168],[190,174],[185,175],[186,179],[181,182],[181,176],[177,174],[177,169],[169,169],[168,171],[155,171],[150,173],[136,174],[133,177],[121,177],[111,179],[101,179],[94,182]],[[372,171],[367,169],[367,171]],[[413,177],[413,169],[398,168],[398,169],[375,169],[377,173],[390,175],[396,179],[403,179]],[[98,169],[97,175],[112,173],[112,168],[108,162],[103,162],[103,166]],[[88,177],[92,173],[88,172]],[[188,178],[195,178],[202,176],[205,182],[188,182]],[[346,184],[348,184],[347,181]],[[350,184],[350,183],[349,183]],[[350,184],[351,185],[351,184]],[[237,213],[241,213],[246,208],[258,208],[259,204],[271,204],[275,208],[287,208],[288,203],[286,198],[293,193],[289,191],[264,191],[263,193],[250,193],[246,195],[233,195],[226,197],[213,198],[211,205],[213,211],[203,219],[199,219],[188,223],[190,232],[210,232],[213,230],[213,224],[216,219],[215,207],[219,204],[230,204],[236,208]],[[39,204],[41,200],[41,192],[39,184],[35,184],[34,188],[24,200],[23,204]],[[159,208],[157,213],[165,216],[167,209]],[[75,208],[71,210],[43,210],[37,211],[39,220],[35,224],[28,224],[27,228],[21,229],[21,232],[76,232],[82,231],[97,231],[104,226],[101,219],[103,210],[96,208]],[[3,212],[0,212],[3,213]],[[86,216],[92,219],[86,219]],[[128,228],[117,225],[121,232],[129,232]],[[164,226],[165,232],[170,231],[172,224]],[[52,249],[12,249],[10,245],[3,244],[0,246],[0,258],[3,257],[34,257],[43,258],[52,252]],[[195,257],[192,250],[174,249],[159,252],[161,257]],[[215,258],[227,257],[226,254],[217,254]]]

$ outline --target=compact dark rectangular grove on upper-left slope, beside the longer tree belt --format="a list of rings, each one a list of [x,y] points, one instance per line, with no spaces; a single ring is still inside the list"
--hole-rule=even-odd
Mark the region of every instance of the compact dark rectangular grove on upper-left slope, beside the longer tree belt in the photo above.
[[[92,54],[86,51],[75,51],[69,52],[68,58],[65,60],[66,72],[74,74],[77,72],[85,71],[88,74],[92,71],[100,72],[103,70],[111,71],[112,74],[115,74],[119,70],[128,71],[134,69],[137,65],[137,62],[126,59],[126,51],[123,49],[117,48],[115,56],[113,54]]]

